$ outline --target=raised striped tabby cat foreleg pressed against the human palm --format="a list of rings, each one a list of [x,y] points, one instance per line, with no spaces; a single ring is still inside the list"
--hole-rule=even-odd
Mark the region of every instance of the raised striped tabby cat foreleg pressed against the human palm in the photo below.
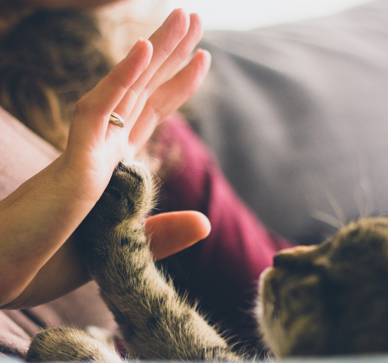
[[[126,344],[141,358],[237,360],[155,267],[142,225],[153,194],[144,166],[119,165],[81,225],[85,261],[102,298]]]

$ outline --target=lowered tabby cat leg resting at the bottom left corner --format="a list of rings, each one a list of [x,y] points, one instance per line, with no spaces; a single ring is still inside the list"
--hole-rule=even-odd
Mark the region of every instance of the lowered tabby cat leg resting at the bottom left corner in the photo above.
[[[113,349],[87,332],[74,328],[48,328],[39,332],[31,341],[26,360],[123,363]]]

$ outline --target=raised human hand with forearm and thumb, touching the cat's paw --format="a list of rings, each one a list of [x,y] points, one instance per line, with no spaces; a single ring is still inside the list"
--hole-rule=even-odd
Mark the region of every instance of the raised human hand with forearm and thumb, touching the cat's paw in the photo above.
[[[0,202],[2,308],[39,305],[89,279],[74,231],[118,162],[132,160],[154,127],[203,81],[210,66],[203,50],[169,79],[201,34],[196,14],[174,10],[77,103],[64,153]],[[123,128],[109,123],[112,111],[125,120]],[[197,212],[165,213],[149,218],[146,230],[154,257],[161,258],[205,237],[210,225]]]

